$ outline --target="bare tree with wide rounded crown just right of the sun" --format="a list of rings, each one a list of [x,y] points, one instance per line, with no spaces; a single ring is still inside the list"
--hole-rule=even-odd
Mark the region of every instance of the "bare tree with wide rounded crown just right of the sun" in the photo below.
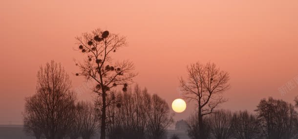
[[[203,116],[213,113],[219,104],[227,101],[222,93],[230,88],[229,74],[210,62],[205,65],[200,62],[191,64],[187,72],[188,78],[180,79],[180,89],[184,98],[196,102],[199,136],[200,139],[206,139]]]

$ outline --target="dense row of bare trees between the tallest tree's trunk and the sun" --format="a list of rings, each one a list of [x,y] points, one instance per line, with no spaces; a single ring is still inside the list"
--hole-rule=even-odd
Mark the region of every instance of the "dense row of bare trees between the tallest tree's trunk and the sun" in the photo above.
[[[111,99],[114,96],[117,99]],[[166,129],[172,124],[173,115],[165,99],[136,85],[111,95],[110,100],[114,102],[106,111],[108,139],[167,139]]]

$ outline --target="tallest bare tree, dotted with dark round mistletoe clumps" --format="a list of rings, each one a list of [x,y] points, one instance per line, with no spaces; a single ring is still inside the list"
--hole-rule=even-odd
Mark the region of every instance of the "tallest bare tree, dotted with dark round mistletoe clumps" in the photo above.
[[[123,90],[127,89],[136,76],[132,73],[134,66],[130,61],[113,62],[111,58],[112,53],[126,46],[124,37],[96,29],[76,37],[76,40],[79,50],[87,56],[83,63],[76,63],[81,69],[76,75],[98,83],[93,91],[102,98],[101,139],[106,139],[106,107],[109,105],[106,97],[110,95],[110,89],[117,85],[124,85]]]

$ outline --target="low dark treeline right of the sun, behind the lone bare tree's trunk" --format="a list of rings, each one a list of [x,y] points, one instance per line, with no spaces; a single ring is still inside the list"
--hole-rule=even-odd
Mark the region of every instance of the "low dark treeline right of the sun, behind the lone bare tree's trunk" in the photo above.
[[[206,138],[298,139],[298,115],[294,107],[291,103],[270,97],[259,102],[255,114],[223,109],[215,111],[203,119]],[[197,117],[195,114],[187,120],[191,139],[200,139]]]

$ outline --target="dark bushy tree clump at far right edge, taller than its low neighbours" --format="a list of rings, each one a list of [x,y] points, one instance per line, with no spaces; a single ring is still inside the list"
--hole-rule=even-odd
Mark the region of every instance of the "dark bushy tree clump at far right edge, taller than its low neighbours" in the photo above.
[[[267,139],[291,139],[298,133],[297,112],[292,104],[270,97],[262,99],[255,111]]]

